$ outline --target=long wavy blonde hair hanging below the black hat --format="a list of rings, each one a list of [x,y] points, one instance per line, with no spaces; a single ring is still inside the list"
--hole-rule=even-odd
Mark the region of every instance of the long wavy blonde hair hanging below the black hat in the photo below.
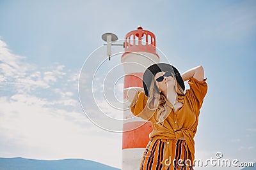
[[[184,90],[182,89],[182,87],[179,85],[179,83],[177,83],[176,77],[174,76],[173,73],[172,77],[175,81],[175,90],[177,92],[177,95],[179,96],[184,96]],[[147,107],[150,110],[156,110],[157,111],[157,121],[159,124],[163,125],[164,120],[168,117],[168,115],[170,113],[167,113],[167,109],[166,109],[166,97],[164,96],[163,93],[159,92],[159,89],[157,87],[156,84],[156,80],[154,78],[152,78],[152,81],[150,83],[150,89],[148,92],[148,101],[147,101]]]

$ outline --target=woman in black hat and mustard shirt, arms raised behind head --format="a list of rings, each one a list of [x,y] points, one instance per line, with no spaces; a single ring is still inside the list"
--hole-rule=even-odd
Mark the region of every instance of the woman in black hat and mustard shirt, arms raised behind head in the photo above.
[[[187,80],[190,89],[184,92]],[[143,89],[126,89],[132,113],[153,127],[140,169],[193,169],[193,138],[207,92],[205,81],[202,66],[180,76],[175,67],[159,63],[146,69]]]

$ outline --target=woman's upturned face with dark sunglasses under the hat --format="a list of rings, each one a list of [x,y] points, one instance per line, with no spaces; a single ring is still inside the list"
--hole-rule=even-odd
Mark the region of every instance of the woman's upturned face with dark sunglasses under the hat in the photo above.
[[[156,73],[156,76],[155,76],[155,80],[157,80],[157,78],[163,76],[163,81],[156,81],[157,87],[159,90],[161,90],[161,92],[167,92],[168,89],[174,87],[174,79],[172,77],[172,74],[171,74],[171,76],[166,77],[166,76],[164,76],[165,73],[166,72],[161,71],[161,72]]]

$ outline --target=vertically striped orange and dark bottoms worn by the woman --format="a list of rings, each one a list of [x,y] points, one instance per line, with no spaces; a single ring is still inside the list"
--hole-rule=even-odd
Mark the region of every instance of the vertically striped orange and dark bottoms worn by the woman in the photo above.
[[[193,167],[186,166],[188,159],[188,145],[185,140],[173,140],[172,142],[172,163],[165,169],[161,164],[164,155],[164,139],[150,139],[143,157],[141,159],[141,170],[192,170]],[[169,144],[170,145],[170,144]],[[174,160],[173,160],[174,159]]]

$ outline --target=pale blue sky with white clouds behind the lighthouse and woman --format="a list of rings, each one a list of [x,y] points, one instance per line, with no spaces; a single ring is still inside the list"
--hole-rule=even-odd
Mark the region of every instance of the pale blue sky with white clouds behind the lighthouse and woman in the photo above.
[[[89,56],[104,58],[102,34],[124,39],[142,25],[181,73],[204,66],[209,91],[196,157],[221,152],[255,162],[255,11],[255,1],[0,1],[0,157],[81,158],[121,167],[122,134],[84,116],[78,76]],[[118,63],[115,57],[107,65]],[[116,92],[122,96],[121,81]],[[118,115],[100,91],[95,95],[103,110]]]

